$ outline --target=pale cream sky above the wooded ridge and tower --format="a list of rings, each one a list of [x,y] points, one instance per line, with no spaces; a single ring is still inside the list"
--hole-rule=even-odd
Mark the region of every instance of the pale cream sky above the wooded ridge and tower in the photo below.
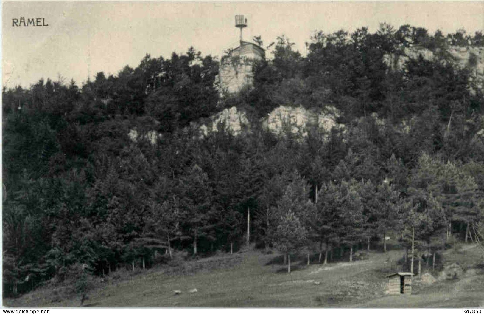
[[[484,31],[484,1],[3,1],[2,86],[26,88],[40,78],[81,85],[100,71],[134,68],[147,53],[169,58],[191,46],[221,56],[238,45],[236,14],[247,18],[244,40],[261,35],[267,45],[284,34],[303,55],[318,30],[373,32],[387,22]],[[48,26],[12,26],[21,16]]]

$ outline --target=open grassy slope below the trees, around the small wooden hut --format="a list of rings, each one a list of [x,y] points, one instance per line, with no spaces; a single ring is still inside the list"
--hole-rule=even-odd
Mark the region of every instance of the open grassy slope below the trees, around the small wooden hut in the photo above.
[[[476,250],[452,251],[446,260],[476,263]],[[238,263],[224,269],[192,275],[160,271],[140,274],[119,283],[106,283],[89,293],[85,306],[100,307],[478,307],[484,305],[482,269],[471,276],[437,282],[430,287],[414,284],[411,296],[384,296],[385,275],[400,270],[396,260],[403,251],[372,253],[368,260],[324,265],[295,265],[287,274],[273,263],[279,256],[261,252],[236,254]],[[234,255],[235,256],[235,255]],[[234,258],[230,255],[220,257]],[[303,264],[303,263],[302,263]],[[471,272],[468,272],[470,274]],[[320,283],[320,284],[317,284]],[[188,290],[197,288],[197,293]],[[181,290],[175,295],[174,290]],[[78,306],[76,297],[52,303],[48,288],[38,289],[9,306]]]

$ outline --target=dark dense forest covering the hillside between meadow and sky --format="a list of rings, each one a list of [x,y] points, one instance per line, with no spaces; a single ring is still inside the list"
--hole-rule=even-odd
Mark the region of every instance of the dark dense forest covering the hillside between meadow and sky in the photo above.
[[[302,56],[281,36],[236,95],[219,95],[217,58],[193,48],[82,86],[3,88],[5,296],[83,267],[102,276],[246,242],[323,262],[389,232],[434,256],[456,239],[482,241],[483,78],[451,46],[484,37],[382,24],[316,32]],[[407,47],[436,57],[390,69],[385,56]],[[188,127],[233,106],[257,122],[281,105],[334,107],[344,128],[301,140],[257,123],[238,136]],[[134,128],[161,135],[132,141]]]

